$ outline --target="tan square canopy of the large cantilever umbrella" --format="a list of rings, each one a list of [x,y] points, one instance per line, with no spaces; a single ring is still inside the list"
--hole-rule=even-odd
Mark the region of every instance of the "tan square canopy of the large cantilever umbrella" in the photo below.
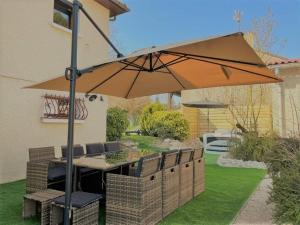
[[[143,49],[80,72],[77,92],[123,98],[281,81],[242,33]],[[29,88],[69,91],[69,81],[60,76]]]

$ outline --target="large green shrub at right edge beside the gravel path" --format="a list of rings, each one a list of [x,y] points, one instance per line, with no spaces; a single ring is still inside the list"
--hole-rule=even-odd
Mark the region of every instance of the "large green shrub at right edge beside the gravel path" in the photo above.
[[[266,155],[278,224],[300,224],[300,140],[280,139]]]

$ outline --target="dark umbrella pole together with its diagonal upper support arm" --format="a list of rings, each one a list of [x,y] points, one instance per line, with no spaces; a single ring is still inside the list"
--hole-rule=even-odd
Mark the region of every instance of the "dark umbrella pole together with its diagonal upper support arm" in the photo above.
[[[64,1],[71,5],[70,2]],[[73,0],[72,4],[72,46],[71,46],[71,65],[65,70],[65,77],[70,82],[69,89],[69,115],[68,115],[68,153],[67,153],[67,172],[66,172],[66,186],[65,186],[65,208],[64,208],[64,224],[69,225],[71,219],[71,193],[72,193],[72,172],[73,172],[73,144],[74,144],[74,114],[75,114],[75,93],[76,93],[76,79],[83,73],[91,72],[92,68],[85,70],[78,70],[77,68],[77,39],[78,39],[78,13],[79,10],[88,18],[96,30],[101,34],[105,41],[117,53],[117,57],[122,57],[122,53],[113,45],[109,38],[104,34],[96,22],[85,11],[82,4],[78,0]]]

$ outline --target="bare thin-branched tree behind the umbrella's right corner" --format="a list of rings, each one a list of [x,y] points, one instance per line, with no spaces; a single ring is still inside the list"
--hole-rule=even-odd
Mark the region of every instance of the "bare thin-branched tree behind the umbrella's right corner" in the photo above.
[[[271,51],[279,44],[275,38],[274,28],[276,23],[272,10],[269,9],[265,16],[256,18],[251,23],[250,32],[246,35],[249,44],[255,49],[262,60],[268,64],[274,57]],[[240,124],[249,131],[258,133],[258,119],[262,105],[271,101],[270,85],[248,85],[241,90],[231,88],[225,94],[230,99],[229,111],[235,124]]]

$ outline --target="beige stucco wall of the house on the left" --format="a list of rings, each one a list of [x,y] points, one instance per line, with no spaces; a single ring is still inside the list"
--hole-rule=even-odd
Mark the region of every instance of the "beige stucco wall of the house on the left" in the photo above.
[[[109,31],[109,11],[93,0],[83,5]],[[25,177],[29,147],[60,146],[67,124],[41,122],[42,95],[24,86],[64,73],[70,64],[71,32],[52,23],[52,0],[0,0],[0,183]],[[80,67],[108,58],[108,46],[80,15]],[[61,93],[66,95],[66,93]],[[75,126],[75,143],[105,141],[107,99],[86,101],[89,116]]]

